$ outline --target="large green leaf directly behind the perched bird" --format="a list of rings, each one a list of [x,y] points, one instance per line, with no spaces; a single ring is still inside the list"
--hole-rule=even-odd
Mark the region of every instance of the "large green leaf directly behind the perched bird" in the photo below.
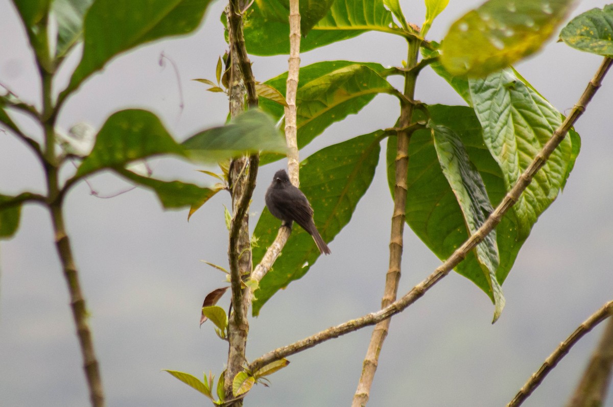
[[[319,150],[302,162],[300,189],[313,206],[315,224],[326,242],[349,223],[357,202],[370,186],[379,161],[381,137],[381,131],[360,135]],[[280,225],[281,221],[267,209],[262,211],[254,230],[259,238],[259,245],[253,249],[254,264],[264,256]],[[305,275],[319,254],[313,238],[301,227],[294,226],[283,256],[260,281],[253,314],[257,315],[278,289]]]

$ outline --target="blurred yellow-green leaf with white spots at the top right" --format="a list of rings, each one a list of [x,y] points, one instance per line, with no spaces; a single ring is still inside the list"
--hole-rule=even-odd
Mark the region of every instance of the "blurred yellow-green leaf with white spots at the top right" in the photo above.
[[[541,48],[573,0],[489,0],[455,21],[441,62],[453,75],[484,77]]]

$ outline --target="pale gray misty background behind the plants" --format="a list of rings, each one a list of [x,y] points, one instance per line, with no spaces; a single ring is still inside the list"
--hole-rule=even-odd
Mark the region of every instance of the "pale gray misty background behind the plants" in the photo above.
[[[421,24],[423,2],[401,3],[407,18]],[[455,18],[477,4],[451,1],[428,37],[441,39]],[[604,4],[583,1],[573,15]],[[88,121],[99,128],[110,114],[129,107],[157,113],[179,140],[223,123],[227,112],[223,94],[207,93],[204,85],[191,81],[213,79],[216,59],[227,48],[219,23],[223,6],[215,2],[192,36],[156,42],[113,59],[69,99],[58,125],[68,129]],[[1,82],[39,105],[32,54],[8,0],[0,0],[0,39]],[[302,64],[351,59],[397,66],[406,58],[405,50],[398,37],[368,33],[305,53]],[[180,70],[182,112],[175,74],[169,65],[158,65],[162,51]],[[77,63],[79,52],[69,64]],[[284,72],[286,59],[253,57],[257,80]],[[568,112],[600,61],[551,40],[539,55],[517,68],[552,104]],[[64,81],[67,75],[64,67]],[[369,405],[506,405],[555,346],[613,298],[612,86],[607,78],[576,126],[582,135],[576,167],[564,193],[535,225],[503,286],[507,305],[500,321],[491,325],[489,299],[452,273],[392,321]],[[417,97],[428,103],[463,104],[430,69],[419,77]],[[389,127],[397,112],[394,97],[378,96],[359,115],[330,127],[301,151],[301,157]],[[27,126],[40,135],[36,126]],[[151,164],[157,177],[208,182],[190,164],[169,159]],[[283,165],[277,162],[261,169],[251,207],[253,224],[264,206],[272,173]],[[128,187],[109,174],[91,178],[91,184],[102,195]],[[17,194],[43,188],[40,165],[28,148],[0,132],[0,191]],[[207,405],[195,390],[160,370],[200,377],[203,371],[219,373],[224,368],[226,343],[218,340],[210,324],[199,329],[198,319],[204,295],[223,286],[224,276],[200,259],[227,264],[223,205],[229,202],[228,194],[219,193],[187,223],[186,210],[163,211],[154,194],[143,189],[100,199],[79,183],[67,197],[67,227],[91,312],[109,406]],[[330,245],[332,256],[320,258],[305,278],[275,295],[261,316],[251,319],[249,359],[378,308],[391,210],[382,156],[354,219]],[[2,243],[1,256],[0,405],[88,405],[66,284],[50,222],[41,207],[24,208],[20,230]],[[438,264],[406,228],[400,292],[408,291]],[[224,307],[227,303],[228,298],[221,301]],[[600,332],[596,329],[585,337],[525,405],[563,405]],[[271,377],[271,388],[252,390],[247,405],[349,405],[370,333],[364,329],[292,356],[291,365]],[[611,395],[608,400],[613,403]]]

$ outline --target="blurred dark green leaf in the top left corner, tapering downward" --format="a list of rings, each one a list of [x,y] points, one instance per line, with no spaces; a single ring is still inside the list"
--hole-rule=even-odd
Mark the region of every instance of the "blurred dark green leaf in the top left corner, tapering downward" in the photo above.
[[[36,59],[49,72],[52,68],[47,43],[47,15],[50,2],[50,0],[13,0],[28,33]]]

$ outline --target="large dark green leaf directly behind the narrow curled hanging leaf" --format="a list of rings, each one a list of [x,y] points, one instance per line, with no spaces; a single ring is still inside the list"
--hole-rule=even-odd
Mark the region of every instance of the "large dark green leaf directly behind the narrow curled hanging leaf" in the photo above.
[[[447,127],[457,135],[470,162],[481,175],[490,201],[492,203],[500,201],[506,194],[502,174],[483,143],[481,125],[473,110],[463,106],[432,105],[428,106],[428,112],[436,126]],[[392,194],[395,183],[395,157],[396,137],[393,136],[387,142],[387,179]],[[450,177],[451,175],[461,177],[457,174],[459,171],[457,168],[447,171],[450,172]],[[474,211],[478,209],[475,208]],[[428,129],[414,132],[409,143],[406,223],[441,260],[451,256],[469,236],[464,213],[441,169],[434,139]],[[503,226],[504,229],[499,228],[499,230],[512,229],[512,224],[507,218],[503,218],[501,227]],[[515,260],[519,248],[514,248],[513,242],[514,236],[497,233],[500,250],[498,272],[500,270],[508,272]],[[465,261],[455,267],[455,271],[473,281],[492,300],[494,299],[489,279],[486,278],[474,251],[468,253]],[[498,281],[501,283],[503,280],[498,275]]]

